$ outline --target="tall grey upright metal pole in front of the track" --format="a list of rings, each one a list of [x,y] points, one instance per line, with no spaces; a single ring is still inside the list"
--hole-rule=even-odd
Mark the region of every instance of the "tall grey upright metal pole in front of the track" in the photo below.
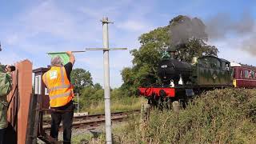
[[[104,63],[104,98],[105,98],[105,122],[106,122],[106,143],[112,144],[111,112],[110,112],[110,64],[109,64],[109,34],[108,18],[102,18],[103,29],[103,63]]]

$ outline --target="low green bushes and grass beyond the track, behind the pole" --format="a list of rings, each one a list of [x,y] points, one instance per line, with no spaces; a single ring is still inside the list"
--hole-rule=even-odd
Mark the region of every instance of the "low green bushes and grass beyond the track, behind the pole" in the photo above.
[[[111,111],[140,109],[144,98],[127,96],[120,88],[110,90]],[[74,98],[76,101],[76,98]],[[101,86],[87,86],[79,96],[79,109],[90,114],[104,112],[104,90]]]

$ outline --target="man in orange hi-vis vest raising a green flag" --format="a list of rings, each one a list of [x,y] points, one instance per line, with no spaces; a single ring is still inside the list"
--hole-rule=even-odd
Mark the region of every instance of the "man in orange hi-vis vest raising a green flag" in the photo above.
[[[51,58],[51,68],[42,76],[43,82],[49,90],[51,113],[50,136],[58,140],[58,127],[62,121],[63,143],[70,143],[71,129],[74,115],[72,98],[74,97],[73,86],[70,83],[70,73],[74,65],[74,55],[71,51],[66,54],[70,62],[65,66],[59,56]]]

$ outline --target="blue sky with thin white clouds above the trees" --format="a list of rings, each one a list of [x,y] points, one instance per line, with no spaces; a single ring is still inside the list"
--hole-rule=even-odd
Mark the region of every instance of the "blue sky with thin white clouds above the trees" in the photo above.
[[[179,14],[206,23],[226,15],[218,25],[239,22],[246,25],[242,17],[250,15],[250,32],[238,34],[226,30],[218,38],[209,38],[208,44],[218,48],[219,58],[256,66],[256,49],[250,43],[254,39],[256,42],[256,1],[253,0],[0,0],[0,62],[14,64],[29,59],[35,69],[50,64],[47,52],[102,47],[100,20],[108,17],[114,22],[109,25],[110,48],[128,48],[110,51],[110,86],[118,87],[122,85],[121,70],[132,66],[130,50],[139,48],[139,36],[167,26]],[[252,48],[245,48],[244,42]],[[102,51],[87,51],[75,57],[74,68],[89,70],[93,82],[103,86]]]

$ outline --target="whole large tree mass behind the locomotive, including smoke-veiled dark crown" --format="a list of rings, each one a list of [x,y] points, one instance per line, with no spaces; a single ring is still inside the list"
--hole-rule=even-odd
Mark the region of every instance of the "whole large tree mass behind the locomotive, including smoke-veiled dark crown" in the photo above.
[[[182,32],[179,34],[178,30]],[[207,39],[205,26],[200,19],[182,15],[173,18],[168,26],[142,34],[138,38],[141,43],[139,49],[130,51],[134,56],[133,66],[122,70],[122,90],[132,95],[138,86],[159,84],[158,62],[170,47],[175,47],[180,53],[179,58],[185,62],[191,62],[193,56],[217,56],[218,49],[215,46],[208,46],[205,42]]]

